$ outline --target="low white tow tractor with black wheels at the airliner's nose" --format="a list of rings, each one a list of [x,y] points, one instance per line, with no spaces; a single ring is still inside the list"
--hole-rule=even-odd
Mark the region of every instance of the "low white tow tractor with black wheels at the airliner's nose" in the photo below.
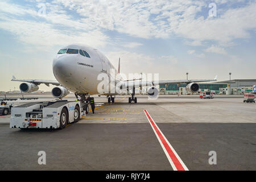
[[[28,102],[12,107],[10,127],[64,129],[68,123],[79,121],[82,115],[85,111],[79,101]]]

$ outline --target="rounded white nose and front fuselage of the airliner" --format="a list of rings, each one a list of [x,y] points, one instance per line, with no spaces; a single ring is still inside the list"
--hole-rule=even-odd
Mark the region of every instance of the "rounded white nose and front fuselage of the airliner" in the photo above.
[[[97,86],[101,80],[98,75],[105,73],[110,78],[111,69],[117,74],[108,58],[97,49],[69,45],[61,50],[53,59],[53,74],[62,86],[74,93],[99,94]]]

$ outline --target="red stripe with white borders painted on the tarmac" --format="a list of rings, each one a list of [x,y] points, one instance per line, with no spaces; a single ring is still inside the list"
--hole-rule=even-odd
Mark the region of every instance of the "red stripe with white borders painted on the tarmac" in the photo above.
[[[164,153],[166,153],[166,156],[172,166],[172,168],[175,171],[188,171],[188,168],[185,166],[183,161],[180,159],[179,155],[177,155],[174,148],[171,146],[171,144],[168,142],[166,137],[164,137],[162,131],[159,129],[159,127],[156,125],[154,120],[151,118],[150,114],[148,114],[147,110],[144,110],[144,113],[146,114],[146,117],[148,121],[150,122],[150,125],[152,129],[154,130],[154,133],[156,137],[159,140],[159,143],[161,144]]]

